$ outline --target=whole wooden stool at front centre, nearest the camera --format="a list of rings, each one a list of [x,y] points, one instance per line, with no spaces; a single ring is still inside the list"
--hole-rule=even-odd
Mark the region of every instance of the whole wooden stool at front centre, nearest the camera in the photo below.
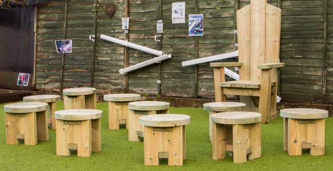
[[[185,153],[185,125],[190,117],[181,114],[146,115],[139,118],[144,126],[145,165],[158,165],[160,158],[168,158],[168,165],[183,165]]]

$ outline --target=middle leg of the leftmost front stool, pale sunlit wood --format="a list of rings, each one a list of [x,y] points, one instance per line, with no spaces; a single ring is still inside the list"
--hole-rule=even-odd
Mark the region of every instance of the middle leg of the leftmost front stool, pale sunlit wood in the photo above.
[[[25,134],[25,144],[26,145],[36,145],[37,144],[37,124],[36,124],[36,113],[27,113],[26,117],[23,118],[22,122],[20,120],[20,126],[23,124],[24,134]]]

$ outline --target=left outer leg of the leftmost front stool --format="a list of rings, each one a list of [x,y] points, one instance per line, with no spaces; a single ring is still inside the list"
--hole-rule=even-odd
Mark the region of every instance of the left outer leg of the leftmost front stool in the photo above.
[[[18,144],[19,140],[17,139],[18,134],[18,117],[13,117],[11,113],[5,112],[6,120],[6,143],[7,144]]]

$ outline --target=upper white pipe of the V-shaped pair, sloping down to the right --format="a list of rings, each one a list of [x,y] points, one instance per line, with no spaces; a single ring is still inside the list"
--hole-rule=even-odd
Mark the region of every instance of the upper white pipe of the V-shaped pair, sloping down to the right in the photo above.
[[[144,52],[147,52],[147,53],[150,53],[150,54],[153,54],[153,55],[157,55],[157,56],[164,55],[164,52],[157,51],[157,50],[154,50],[152,48],[141,46],[141,45],[138,45],[138,44],[135,44],[135,43],[125,41],[125,40],[120,40],[120,39],[117,39],[117,38],[114,38],[114,37],[106,36],[104,34],[101,35],[101,39],[107,40],[107,41],[110,41],[110,42],[113,42],[113,43],[121,44],[121,45],[126,46],[126,47],[135,48],[136,50],[144,51]]]

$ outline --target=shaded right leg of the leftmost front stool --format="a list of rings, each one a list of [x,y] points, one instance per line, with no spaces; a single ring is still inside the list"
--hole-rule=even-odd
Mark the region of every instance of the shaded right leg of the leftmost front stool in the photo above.
[[[49,129],[47,128],[46,110],[36,112],[37,139],[41,141],[49,140]]]

